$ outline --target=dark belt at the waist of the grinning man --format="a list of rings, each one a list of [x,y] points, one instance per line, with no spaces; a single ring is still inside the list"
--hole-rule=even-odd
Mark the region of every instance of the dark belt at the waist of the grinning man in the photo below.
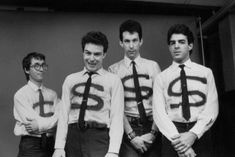
[[[71,128],[78,128],[80,130],[86,130],[86,129],[108,129],[106,124],[103,123],[97,123],[95,121],[85,121],[84,122],[84,128],[80,128],[78,123],[71,123],[69,124],[69,127]]]

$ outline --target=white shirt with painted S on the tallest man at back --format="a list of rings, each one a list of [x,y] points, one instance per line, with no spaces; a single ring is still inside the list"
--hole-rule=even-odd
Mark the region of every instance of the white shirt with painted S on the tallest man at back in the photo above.
[[[153,82],[160,68],[157,62],[148,60],[138,56],[135,60],[136,70],[139,75],[139,84],[141,88],[141,95],[143,97],[143,105],[146,115],[152,115],[152,88]],[[139,117],[137,102],[135,99],[134,81],[132,60],[124,57],[123,60],[111,65],[109,71],[117,74],[121,79],[124,86],[125,94],[125,114],[132,117]]]

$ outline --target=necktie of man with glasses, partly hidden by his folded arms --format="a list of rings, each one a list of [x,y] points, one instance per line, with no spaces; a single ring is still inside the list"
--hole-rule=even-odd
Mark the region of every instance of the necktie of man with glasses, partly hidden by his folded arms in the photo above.
[[[39,91],[39,106],[40,106],[39,115],[43,117],[44,116],[44,111],[43,111],[44,98],[43,98],[43,95],[42,95],[42,90],[38,89],[38,91]],[[47,135],[46,135],[46,133],[43,133],[41,136],[42,136],[41,147],[42,147],[42,149],[45,149],[46,148],[46,143],[47,143]]]

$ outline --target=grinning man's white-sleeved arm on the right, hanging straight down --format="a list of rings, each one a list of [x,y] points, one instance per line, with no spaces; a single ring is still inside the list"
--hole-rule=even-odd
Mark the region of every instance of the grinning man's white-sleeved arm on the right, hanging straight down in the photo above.
[[[114,78],[111,89],[110,130],[108,154],[118,154],[123,136],[124,90],[121,80]]]

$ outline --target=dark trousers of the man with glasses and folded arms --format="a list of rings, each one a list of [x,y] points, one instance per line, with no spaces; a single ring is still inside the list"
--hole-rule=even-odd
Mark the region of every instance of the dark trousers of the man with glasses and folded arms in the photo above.
[[[42,147],[40,137],[22,136],[17,157],[51,157],[53,152],[54,137],[48,137],[45,147]]]

